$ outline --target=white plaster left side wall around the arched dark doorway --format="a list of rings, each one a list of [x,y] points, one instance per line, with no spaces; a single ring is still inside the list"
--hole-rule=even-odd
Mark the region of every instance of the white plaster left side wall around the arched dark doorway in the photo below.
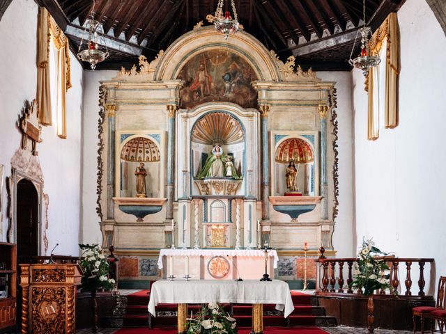
[[[36,28],[38,6],[32,0],[13,1],[0,21],[0,164],[10,176],[10,159],[20,146],[17,117],[25,100],[36,97]],[[56,136],[56,127],[44,127],[43,143],[38,144],[40,165],[45,176],[44,191],[49,195],[49,250],[77,255],[80,207],[80,143],[82,110],[82,67],[71,54],[72,88],[67,94],[68,138]],[[55,97],[55,93],[53,93]],[[6,190],[1,193],[1,240],[6,241]],[[42,223],[43,217],[42,217]]]

